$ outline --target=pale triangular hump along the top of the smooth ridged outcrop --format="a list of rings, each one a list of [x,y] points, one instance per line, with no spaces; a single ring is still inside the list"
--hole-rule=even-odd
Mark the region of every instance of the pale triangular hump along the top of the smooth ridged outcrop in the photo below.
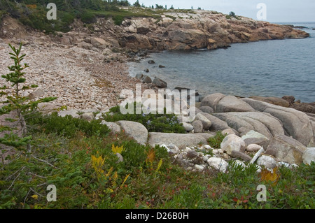
[[[218,102],[216,113],[229,113],[229,112],[248,112],[254,111],[254,109],[248,105],[248,103],[237,99],[236,96],[225,96]]]

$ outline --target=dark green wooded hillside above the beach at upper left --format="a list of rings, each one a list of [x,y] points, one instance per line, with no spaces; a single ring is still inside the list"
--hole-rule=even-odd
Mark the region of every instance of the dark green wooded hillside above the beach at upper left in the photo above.
[[[97,21],[97,17],[112,17],[116,25],[120,25],[125,17],[154,17],[160,18],[162,13],[167,11],[167,6],[163,7],[155,5],[155,10],[149,6],[146,8],[144,4],[140,5],[136,1],[133,6],[127,10],[119,8],[120,6],[131,6],[127,0],[57,0],[53,1],[57,6],[57,20],[48,20],[46,0],[0,0],[0,21],[1,17],[8,14],[17,18],[25,25],[45,31],[45,33],[54,33],[55,31],[70,31],[71,23],[74,19],[80,19],[90,24]],[[193,10],[174,10],[174,6],[170,10],[178,13],[195,13]]]

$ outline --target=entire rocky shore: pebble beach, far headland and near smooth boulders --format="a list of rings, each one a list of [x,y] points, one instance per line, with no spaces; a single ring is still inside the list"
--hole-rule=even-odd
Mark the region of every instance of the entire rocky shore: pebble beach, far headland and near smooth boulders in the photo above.
[[[143,91],[167,87],[162,80],[144,81],[144,77],[138,80],[128,75],[125,62],[146,57],[147,50],[216,49],[231,43],[307,37],[304,31],[245,17],[228,20],[221,13],[190,14],[167,14],[160,21],[126,19],[121,26],[99,18],[89,28],[76,21],[72,31],[55,36],[31,31],[16,20],[4,17],[0,29],[0,72],[8,73],[7,66],[11,64],[8,43],[22,41],[22,50],[27,54],[25,62],[30,66],[28,84],[39,87],[36,92],[25,94],[34,98],[57,96],[53,103],[38,105],[46,113],[67,106],[68,110],[59,115],[92,120],[100,117],[94,113],[102,115],[123,101],[123,89],[135,92],[139,83]],[[103,124],[113,131],[124,130],[139,143],[165,146],[179,163],[191,170],[202,171],[214,166],[225,171],[226,161],[250,161],[248,154],[262,148],[264,154],[259,159],[268,163],[258,159],[260,166],[309,163],[314,160],[315,117],[309,114],[314,107],[302,104],[306,112],[303,113],[293,109],[297,108],[298,101],[292,97],[281,100],[209,94],[198,108],[190,107],[196,116],[183,124],[187,134],[150,133],[137,122]],[[216,131],[228,134],[220,149],[207,146],[207,139]],[[207,152],[213,155],[209,157]]]

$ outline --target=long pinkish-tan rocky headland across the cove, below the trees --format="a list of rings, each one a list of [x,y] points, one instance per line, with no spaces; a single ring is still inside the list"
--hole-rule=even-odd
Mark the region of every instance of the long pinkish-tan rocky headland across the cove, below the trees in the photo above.
[[[141,8],[139,14],[141,12]],[[227,17],[223,13],[209,10],[176,12],[151,10],[152,17],[125,17],[120,26],[111,18],[99,17],[89,28],[75,20],[68,33],[57,32],[55,36],[42,36],[43,43],[59,42],[62,45],[77,45],[86,50],[106,48],[129,48],[139,50],[192,50],[227,48],[232,43],[251,41],[305,38],[309,34],[294,27],[257,21],[248,17]],[[13,18],[13,22],[18,23]],[[13,31],[14,30],[14,31]],[[28,30],[16,24],[3,27],[3,38],[23,38]],[[14,33],[14,35],[13,35]],[[27,42],[25,42],[27,44]],[[119,50],[118,50],[119,51]],[[106,61],[114,58],[109,55]],[[119,58],[118,58],[119,59]]]

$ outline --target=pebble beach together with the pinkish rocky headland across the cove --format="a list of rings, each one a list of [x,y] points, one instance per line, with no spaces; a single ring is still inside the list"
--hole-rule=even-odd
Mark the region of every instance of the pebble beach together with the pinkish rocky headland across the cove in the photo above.
[[[137,80],[127,74],[125,62],[147,57],[148,52],[216,49],[231,43],[309,36],[292,27],[247,17],[228,19],[222,13],[207,10],[166,11],[157,15],[158,20],[125,18],[120,26],[103,17],[88,26],[75,20],[71,31],[55,35],[31,30],[4,16],[0,25],[0,71],[6,73],[9,64],[7,43],[22,41],[31,84],[37,84],[46,95],[57,96],[57,106],[105,110],[120,103],[120,92],[134,90],[136,83],[142,82],[143,90],[167,87],[162,80],[150,80],[146,75]],[[67,85],[63,86],[65,82]],[[306,112],[312,109],[302,107]]]

